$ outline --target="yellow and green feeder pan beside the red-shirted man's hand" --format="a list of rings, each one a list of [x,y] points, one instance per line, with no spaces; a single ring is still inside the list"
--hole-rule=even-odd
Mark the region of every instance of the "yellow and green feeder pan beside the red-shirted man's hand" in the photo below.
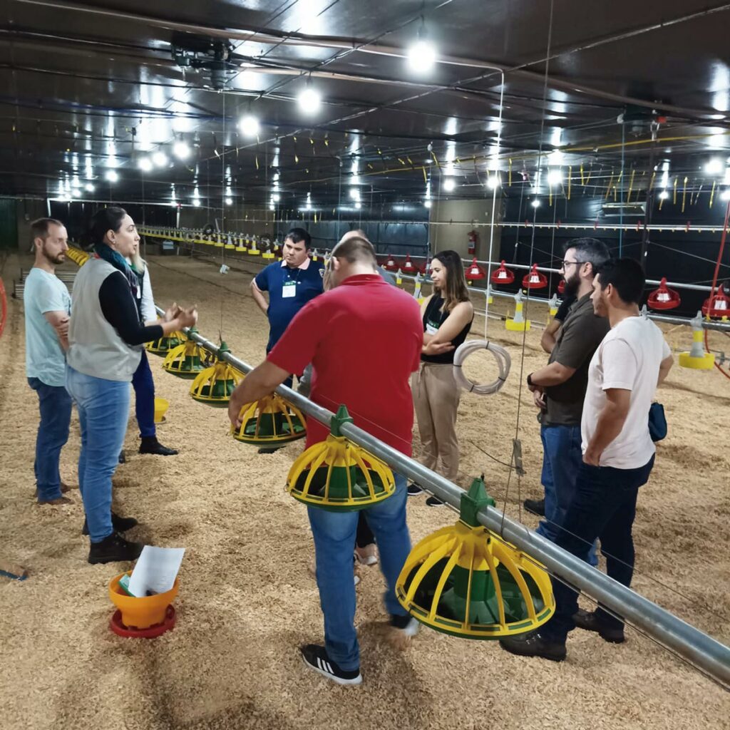
[[[231,434],[245,444],[283,446],[307,435],[304,415],[276,393],[247,403],[241,408],[239,418],[241,427],[231,426]]]

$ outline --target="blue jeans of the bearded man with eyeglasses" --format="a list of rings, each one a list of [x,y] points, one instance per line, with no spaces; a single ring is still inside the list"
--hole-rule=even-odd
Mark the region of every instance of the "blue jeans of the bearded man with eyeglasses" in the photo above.
[[[545,487],[545,519],[537,532],[557,542],[568,507],[575,498],[575,483],[583,464],[580,425],[540,426],[542,439],[542,486]],[[598,565],[596,545],[587,546],[588,563]],[[581,556],[585,558],[586,556]]]

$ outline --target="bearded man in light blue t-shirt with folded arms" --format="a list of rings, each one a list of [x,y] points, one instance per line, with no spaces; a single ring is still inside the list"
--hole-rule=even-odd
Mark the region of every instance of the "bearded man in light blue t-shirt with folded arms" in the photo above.
[[[31,223],[31,235],[36,260],[26,278],[23,304],[26,375],[38,393],[41,412],[34,464],[37,497],[39,504],[68,504],[58,460],[71,422],[71,396],[65,387],[71,296],[55,275],[55,267],[66,260],[68,234],[60,220],[39,218]]]

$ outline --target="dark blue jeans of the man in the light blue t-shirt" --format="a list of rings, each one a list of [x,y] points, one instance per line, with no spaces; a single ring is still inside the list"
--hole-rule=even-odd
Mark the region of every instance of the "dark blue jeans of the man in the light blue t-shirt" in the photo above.
[[[50,502],[61,496],[61,473],[58,460],[69,440],[71,399],[66,388],[46,385],[37,377],[29,377],[28,385],[38,393],[41,422],[36,437],[36,488],[39,502]]]

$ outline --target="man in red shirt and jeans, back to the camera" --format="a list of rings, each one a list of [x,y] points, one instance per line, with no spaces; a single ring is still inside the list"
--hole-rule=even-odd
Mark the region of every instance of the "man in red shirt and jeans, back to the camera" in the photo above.
[[[290,372],[312,363],[315,403],[337,411],[345,404],[361,429],[410,456],[413,403],[410,374],[418,369],[423,345],[420,308],[412,296],[385,283],[369,241],[350,237],[332,251],[334,288],[306,304],[269,353],[231,396],[228,415],[239,425],[243,404],[271,393]],[[307,447],[326,439],[326,426],[307,420]],[[418,624],[396,600],[396,579],[410,553],[405,478],[396,475],[396,493],[366,514],[380,549],[388,585],[385,607],[401,637]],[[308,507],[317,559],[317,585],[324,613],[325,645],[301,648],[304,663],[339,684],[360,684],[355,618],[353,549],[358,512]]]

